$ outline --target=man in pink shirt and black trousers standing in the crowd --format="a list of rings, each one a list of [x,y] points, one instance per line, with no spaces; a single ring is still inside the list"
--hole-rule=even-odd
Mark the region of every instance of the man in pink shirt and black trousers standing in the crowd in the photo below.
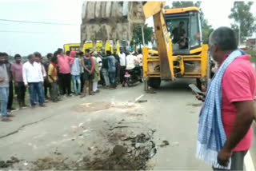
[[[62,49],[58,49],[58,73],[59,81],[62,85],[62,95],[66,94],[70,97],[71,93],[71,66],[74,63],[74,58],[66,56]]]

